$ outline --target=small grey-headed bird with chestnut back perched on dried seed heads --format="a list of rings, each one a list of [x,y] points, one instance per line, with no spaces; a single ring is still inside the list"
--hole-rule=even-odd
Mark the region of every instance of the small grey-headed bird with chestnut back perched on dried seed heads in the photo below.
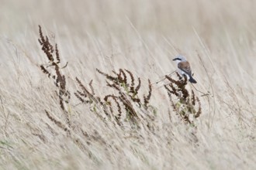
[[[178,73],[188,77],[190,83],[197,83],[192,77],[192,71],[189,62],[185,59],[185,56],[178,55],[175,59],[172,59],[178,63]]]

